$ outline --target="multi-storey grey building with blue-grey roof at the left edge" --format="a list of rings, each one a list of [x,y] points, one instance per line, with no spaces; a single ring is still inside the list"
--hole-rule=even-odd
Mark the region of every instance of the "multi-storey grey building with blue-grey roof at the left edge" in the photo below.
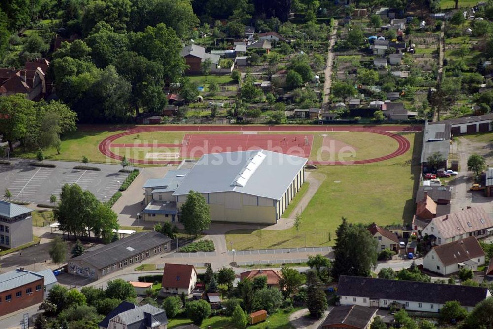
[[[32,211],[0,200],[0,247],[17,248],[33,241]]]

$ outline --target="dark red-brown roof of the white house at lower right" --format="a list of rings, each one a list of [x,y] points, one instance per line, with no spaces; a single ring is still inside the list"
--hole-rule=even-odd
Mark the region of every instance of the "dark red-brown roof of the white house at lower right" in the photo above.
[[[485,252],[479,245],[475,236],[435,246],[433,247],[433,250],[445,266],[485,256]]]

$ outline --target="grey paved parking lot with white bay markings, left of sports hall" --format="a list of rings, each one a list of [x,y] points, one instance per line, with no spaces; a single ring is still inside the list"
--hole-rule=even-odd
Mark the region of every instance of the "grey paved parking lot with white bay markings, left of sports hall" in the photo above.
[[[125,180],[119,165],[90,164],[101,169],[76,170],[75,162],[50,161],[56,168],[30,166],[32,160],[12,159],[11,165],[0,166],[0,193],[8,189],[11,200],[49,203],[50,195],[57,197],[64,184],[78,184],[83,190],[91,191],[100,201],[109,199]]]

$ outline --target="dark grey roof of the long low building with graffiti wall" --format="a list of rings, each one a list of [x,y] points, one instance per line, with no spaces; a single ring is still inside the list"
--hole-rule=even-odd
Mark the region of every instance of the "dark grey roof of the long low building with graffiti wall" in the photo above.
[[[70,261],[84,261],[97,269],[103,269],[169,241],[170,238],[155,231],[135,233],[100,248],[87,250]]]

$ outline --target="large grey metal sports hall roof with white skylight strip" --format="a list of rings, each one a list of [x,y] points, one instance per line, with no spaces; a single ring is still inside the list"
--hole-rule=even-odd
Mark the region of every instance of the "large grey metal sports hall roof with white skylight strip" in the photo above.
[[[234,191],[279,200],[306,162],[306,158],[267,150],[205,154],[173,195],[190,190]]]

